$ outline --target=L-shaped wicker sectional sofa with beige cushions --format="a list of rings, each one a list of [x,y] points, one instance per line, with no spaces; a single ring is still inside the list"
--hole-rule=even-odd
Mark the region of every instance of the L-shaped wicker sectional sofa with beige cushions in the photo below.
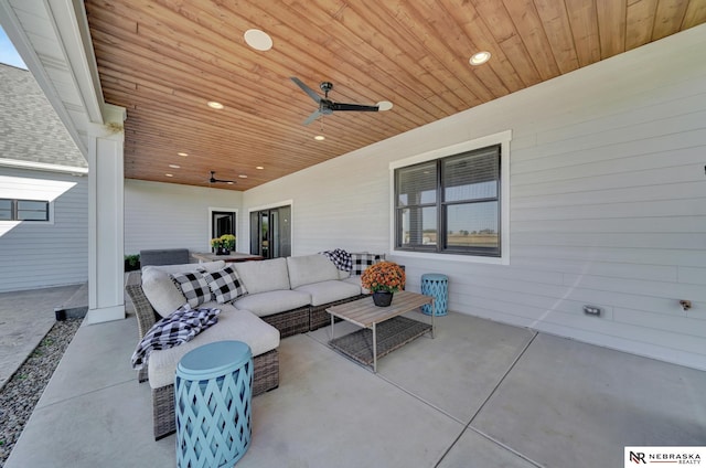
[[[373,257],[371,257],[373,258]],[[375,256],[374,258],[379,258]],[[373,260],[371,260],[372,263]],[[185,302],[170,274],[222,270],[222,260],[202,264],[149,266],[128,276],[126,292],[138,319],[139,339],[161,317]],[[254,355],[253,394],[279,385],[280,338],[307,332],[330,323],[325,309],[363,297],[360,276],[339,270],[325,256],[314,254],[261,262],[228,264],[237,272],[247,294],[229,304],[205,302],[199,307],[221,309],[218,322],[193,340],[175,348],[152,351],[139,381],[152,391],[154,438],[175,430],[173,377],[181,357],[190,350],[220,340],[246,342]],[[205,274],[204,273],[204,274]]]

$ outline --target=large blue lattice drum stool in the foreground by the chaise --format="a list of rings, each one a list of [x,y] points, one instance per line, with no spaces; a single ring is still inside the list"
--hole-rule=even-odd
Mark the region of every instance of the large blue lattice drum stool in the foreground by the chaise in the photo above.
[[[240,341],[216,341],[176,365],[176,466],[232,467],[250,445],[253,353]]]

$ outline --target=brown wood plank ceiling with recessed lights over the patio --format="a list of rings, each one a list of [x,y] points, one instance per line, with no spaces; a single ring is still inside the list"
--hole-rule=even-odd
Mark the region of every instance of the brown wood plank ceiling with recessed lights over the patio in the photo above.
[[[85,0],[125,176],[247,190],[706,21],[704,0]],[[249,47],[245,31],[274,46]],[[492,59],[471,66],[469,57]],[[317,109],[291,76],[334,102]],[[225,108],[214,110],[216,100]],[[323,141],[313,137],[322,134]],[[180,152],[188,156],[179,156]],[[178,168],[170,167],[178,166]],[[264,169],[256,169],[256,168]],[[167,176],[167,174],[171,174]]]

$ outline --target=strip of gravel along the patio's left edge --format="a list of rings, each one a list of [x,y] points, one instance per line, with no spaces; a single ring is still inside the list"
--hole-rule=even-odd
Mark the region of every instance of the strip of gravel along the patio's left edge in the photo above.
[[[54,323],[32,354],[0,389],[0,467],[4,466],[82,321],[66,319]]]

